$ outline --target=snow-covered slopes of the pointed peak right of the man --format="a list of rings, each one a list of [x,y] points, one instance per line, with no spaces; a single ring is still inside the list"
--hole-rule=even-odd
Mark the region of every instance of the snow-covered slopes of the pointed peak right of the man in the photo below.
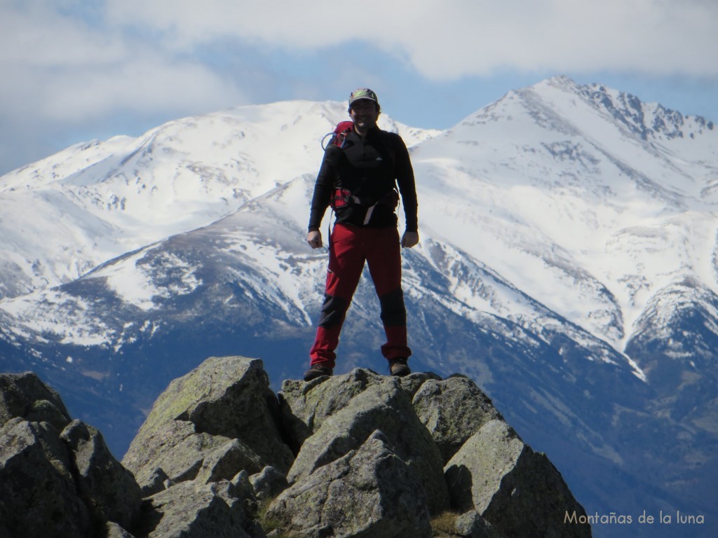
[[[426,221],[434,228],[446,221],[446,231],[437,232],[450,237],[451,230],[472,228],[460,247],[533,296],[551,294],[548,288],[536,293],[536,281],[553,280],[559,286],[553,295],[561,301],[576,284],[586,288],[582,301],[575,301],[579,309],[548,304],[579,324],[595,319],[592,331],[620,345],[645,304],[646,283],[657,281],[661,288],[695,272],[714,286],[709,252],[718,199],[707,196],[714,190],[696,178],[715,174],[716,161],[691,163],[626,131],[618,108],[605,110],[611,95],[621,101],[623,94],[602,93],[600,107],[595,91],[591,100],[579,99],[586,93],[564,77],[512,92],[442,137],[456,148],[451,169],[445,157],[437,162],[437,155],[449,153],[438,144],[417,148],[415,161],[431,168],[429,189],[440,209]],[[705,126],[693,141],[702,155],[715,156],[712,123],[680,119]],[[473,189],[477,182],[480,189]],[[443,217],[449,207],[460,222]],[[472,216],[465,220],[467,214]],[[645,251],[647,242],[653,244]],[[676,249],[673,268],[666,267],[666,247]],[[516,260],[531,251],[528,260]],[[656,290],[648,286],[649,293]]]

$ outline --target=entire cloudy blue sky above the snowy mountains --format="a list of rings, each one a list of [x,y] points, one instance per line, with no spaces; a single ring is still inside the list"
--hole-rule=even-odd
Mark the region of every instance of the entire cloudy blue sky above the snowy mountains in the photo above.
[[[0,174],[358,87],[420,128],[556,75],[718,122],[717,24],[718,0],[0,0]]]

